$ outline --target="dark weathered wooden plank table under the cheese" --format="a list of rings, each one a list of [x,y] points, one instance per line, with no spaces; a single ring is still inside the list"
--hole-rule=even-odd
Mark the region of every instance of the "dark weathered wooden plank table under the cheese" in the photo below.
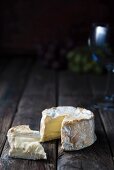
[[[89,107],[104,94],[107,76],[41,70],[31,58],[0,63],[0,170],[113,170],[114,110],[94,110],[97,141],[74,152],[63,152],[59,140],[44,143],[48,159],[8,158],[7,131],[29,124],[39,130],[41,111],[58,105]],[[111,90],[114,92],[114,77]]]

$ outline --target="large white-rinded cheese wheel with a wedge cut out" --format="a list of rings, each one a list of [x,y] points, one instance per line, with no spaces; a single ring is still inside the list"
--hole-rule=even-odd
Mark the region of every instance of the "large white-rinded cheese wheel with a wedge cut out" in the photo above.
[[[64,117],[61,121],[60,136],[55,135],[52,137],[50,133],[47,134],[47,126],[50,126],[52,121],[56,121],[61,116]],[[51,134],[54,134],[54,130],[53,126]],[[75,108],[72,106],[45,109],[42,112],[40,135],[42,142],[61,137],[62,148],[64,150],[85,148],[92,145],[96,140],[94,114],[85,108]],[[47,135],[48,138],[46,138]]]

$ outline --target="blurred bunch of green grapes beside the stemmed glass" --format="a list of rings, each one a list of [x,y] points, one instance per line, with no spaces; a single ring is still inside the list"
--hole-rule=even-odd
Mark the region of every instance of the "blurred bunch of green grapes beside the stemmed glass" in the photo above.
[[[68,67],[76,73],[103,72],[103,66],[99,60],[99,54],[92,53],[88,47],[80,47],[67,54]]]

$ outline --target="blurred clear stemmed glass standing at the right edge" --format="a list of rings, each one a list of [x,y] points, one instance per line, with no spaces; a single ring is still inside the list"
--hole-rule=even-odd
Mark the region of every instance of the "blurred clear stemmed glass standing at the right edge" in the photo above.
[[[112,80],[112,73],[114,73],[113,55],[107,47],[109,43],[110,28],[107,24],[93,24],[88,39],[88,45],[92,49],[93,56],[96,56],[96,62],[101,62],[107,70],[107,81],[105,88],[105,95],[99,98],[99,102],[94,105],[95,108],[114,108],[114,94],[110,93],[110,85]],[[106,57],[96,55],[96,49],[101,49]]]

